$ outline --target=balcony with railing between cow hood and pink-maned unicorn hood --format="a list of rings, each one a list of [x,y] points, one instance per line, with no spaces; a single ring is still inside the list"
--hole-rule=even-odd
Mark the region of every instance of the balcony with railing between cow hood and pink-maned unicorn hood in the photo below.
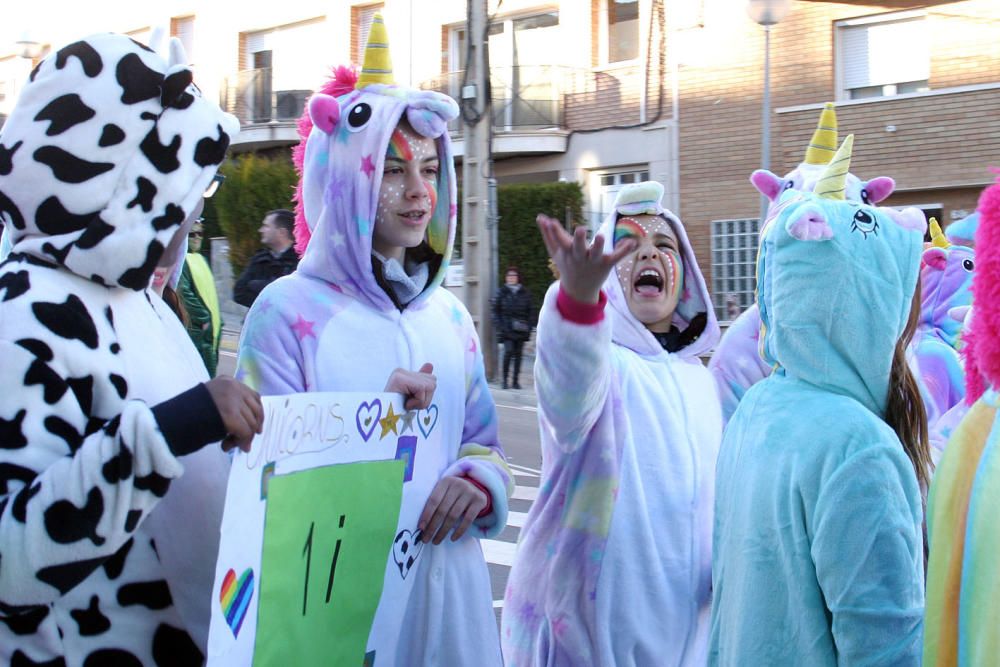
[[[235,152],[299,140],[296,126],[312,91],[278,89],[272,74],[270,68],[243,70],[223,84],[219,106],[240,121],[240,134],[232,144]]]

